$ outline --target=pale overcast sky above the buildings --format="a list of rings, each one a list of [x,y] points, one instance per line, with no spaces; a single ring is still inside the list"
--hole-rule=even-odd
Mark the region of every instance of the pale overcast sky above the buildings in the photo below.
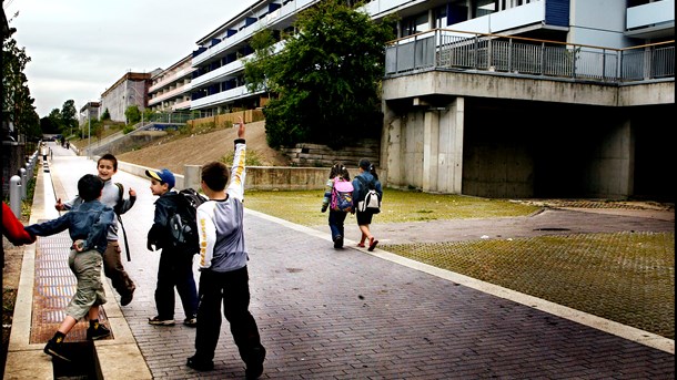
[[[127,72],[166,69],[255,0],[4,0],[40,117],[98,102]],[[16,14],[19,12],[19,14]]]

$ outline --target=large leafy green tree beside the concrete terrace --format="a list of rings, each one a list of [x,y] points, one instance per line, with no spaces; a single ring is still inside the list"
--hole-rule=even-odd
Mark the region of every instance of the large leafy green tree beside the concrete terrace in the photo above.
[[[378,90],[393,21],[375,22],[351,1],[327,0],[299,14],[297,33],[284,38],[279,53],[272,54],[271,34],[253,39],[245,80],[250,90],[276,94],[263,110],[271,146],[338,148],[380,135]]]

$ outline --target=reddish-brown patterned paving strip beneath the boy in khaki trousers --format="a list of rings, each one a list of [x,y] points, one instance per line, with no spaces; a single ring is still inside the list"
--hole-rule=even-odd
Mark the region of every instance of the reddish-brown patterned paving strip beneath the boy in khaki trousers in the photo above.
[[[46,220],[39,223],[42,222]],[[68,266],[68,255],[72,245],[68,230],[52,236],[38,237],[36,244],[30,343],[46,343],[54,336],[61,321],[65,318],[65,307],[75,294],[77,279]],[[104,322],[107,319],[103,307],[100,307],[99,321]],[[65,336],[65,341],[87,341],[88,327],[89,320],[85,317],[78,321]],[[110,328],[110,326],[108,327]],[[112,339],[112,333],[104,339]]]

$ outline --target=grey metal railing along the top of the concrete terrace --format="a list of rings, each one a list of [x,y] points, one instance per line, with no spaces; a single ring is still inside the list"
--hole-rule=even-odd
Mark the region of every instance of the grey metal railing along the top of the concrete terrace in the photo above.
[[[483,70],[594,82],[675,76],[675,41],[626,49],[435,29],[390,42],[385,75]]]

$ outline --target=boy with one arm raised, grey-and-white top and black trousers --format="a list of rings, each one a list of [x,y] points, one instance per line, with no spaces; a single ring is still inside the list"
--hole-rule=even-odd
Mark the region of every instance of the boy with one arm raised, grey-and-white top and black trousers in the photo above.
[[[223,304],[223,316],[231,326],[240,357],[246,364],[245,377],[257,379],[263,373],[265,348],[261,345],[256,321],[249,311],[249,256],[242,220],[246,150],[242,117],[238,137],[228,189],[229,172],[223,163],[212,162],[202,167],[201,186],[209,201],[198,207],[200,323],[195,333],[195,355],[188,359],[186,364],[200,371],[214,368]]]

